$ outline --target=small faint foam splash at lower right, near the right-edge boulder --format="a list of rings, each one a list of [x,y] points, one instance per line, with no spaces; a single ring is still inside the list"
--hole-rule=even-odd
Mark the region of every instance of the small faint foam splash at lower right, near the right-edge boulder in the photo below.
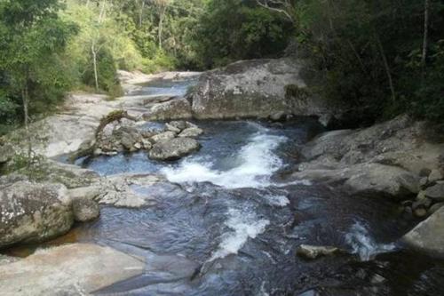
[[[353,224],[345,240],[352,247],[353,253],[359,255],[362,261],[372,260],[377,254],[396,249],[395,244],[377,244],[369,235],[369,230],[359,221]]]

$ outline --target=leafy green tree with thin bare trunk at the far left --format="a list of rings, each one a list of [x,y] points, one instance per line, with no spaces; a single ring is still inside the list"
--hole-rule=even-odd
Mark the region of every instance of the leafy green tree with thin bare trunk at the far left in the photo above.
[[[64,51],[68,38],[76,32],[74,25],[59,20],[59,8],[57,0],[8,0],[0,4],[3,36],[0,69],[8,77],[11,92],[21,98],[28,159],[31,159],[32,153],[28,129],[29,102],[36,97],[38,85],[44,84],[47,77],[41,68]]]

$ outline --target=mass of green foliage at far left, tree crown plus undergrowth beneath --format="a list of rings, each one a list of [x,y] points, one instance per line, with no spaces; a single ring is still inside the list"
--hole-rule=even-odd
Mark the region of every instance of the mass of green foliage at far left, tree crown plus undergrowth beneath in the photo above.
[[[31,114],[47,111],[70,87],[62,55],[76,27],[59,20],[59,7],[57,0],[0,2],[2,126],[21,122],[25,102]]]

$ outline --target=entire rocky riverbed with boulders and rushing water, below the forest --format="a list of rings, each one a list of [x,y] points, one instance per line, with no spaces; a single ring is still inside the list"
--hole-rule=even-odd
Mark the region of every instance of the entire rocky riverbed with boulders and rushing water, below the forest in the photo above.
[[[440,136],[408,116],[327,131],[341,112],[305,90],[305,71],[121,72],[123,98],[71,95],[32,128],[52,159],[0,177],[2,291],[443,291],[444,261],[429,257],[444,255]],[[6,169],[17,138],[0,148]]]

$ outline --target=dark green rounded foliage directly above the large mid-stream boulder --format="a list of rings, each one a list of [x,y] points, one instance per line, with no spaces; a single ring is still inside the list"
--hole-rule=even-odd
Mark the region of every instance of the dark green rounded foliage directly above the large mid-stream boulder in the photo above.
[[[254,1],[212,0],[202,14],[196,51],[202,68],[234,60],[275,57],[286,48],[293,27]]]

